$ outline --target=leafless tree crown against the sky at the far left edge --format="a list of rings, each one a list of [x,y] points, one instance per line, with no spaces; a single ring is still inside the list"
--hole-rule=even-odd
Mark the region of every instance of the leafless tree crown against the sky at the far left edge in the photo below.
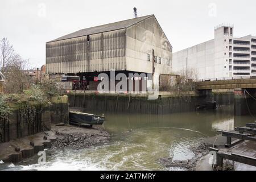
[[[13,45],[9,43],[7,38],[0,40],[0,51],[0,69],[2,72],[5,72],[9,65],[19,59],[19,55],[14,52]]]

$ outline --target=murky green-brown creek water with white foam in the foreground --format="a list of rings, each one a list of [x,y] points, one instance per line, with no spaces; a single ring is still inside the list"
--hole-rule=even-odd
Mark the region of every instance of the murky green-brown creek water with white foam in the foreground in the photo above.
[[[203,138],[216,135],[218,129],[229,131],[254,120],[249,115],[234,116],[233,110],[233,106],[224,106],[216,111],[166,115],[105,113],[103,127],[112,135],[110,143],[84,150],[59,150],[47,156],[44,164],[2,169],[180,170],[164,167],[159,158],[191,159],[195,154],[189,148]]]

